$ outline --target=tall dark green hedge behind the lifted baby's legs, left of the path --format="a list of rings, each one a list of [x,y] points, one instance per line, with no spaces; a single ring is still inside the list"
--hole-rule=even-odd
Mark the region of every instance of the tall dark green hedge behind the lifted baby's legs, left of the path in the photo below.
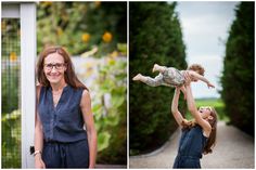
[[[177,123],[170,115],[174,89],[132,81],[151,74],[154,63],[185,69],[185,53],[176,3],[130,2],[129,146],[130,155],[159,147]]]

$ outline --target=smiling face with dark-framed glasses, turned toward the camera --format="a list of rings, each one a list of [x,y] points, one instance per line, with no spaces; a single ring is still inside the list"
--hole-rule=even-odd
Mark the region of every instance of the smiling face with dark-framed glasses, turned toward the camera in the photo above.
[[[44,58],[43,71],[50,83],[60,83],[64,81],[66,65],[64,58],[59,53],[49,54]]]

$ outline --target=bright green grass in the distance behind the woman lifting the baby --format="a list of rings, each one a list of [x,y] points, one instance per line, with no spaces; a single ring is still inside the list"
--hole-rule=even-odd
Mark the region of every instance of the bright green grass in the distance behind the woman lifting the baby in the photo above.
[[[200,106],[213,106],[218,113],[218,119],[221,121],[229,122],[230,119],[225,113],[225,103],[221,99],[202,99],[195,100],[195,104],[197,107]],[[192,116],[189,112],[185,114],[187,119],[192,119]]]

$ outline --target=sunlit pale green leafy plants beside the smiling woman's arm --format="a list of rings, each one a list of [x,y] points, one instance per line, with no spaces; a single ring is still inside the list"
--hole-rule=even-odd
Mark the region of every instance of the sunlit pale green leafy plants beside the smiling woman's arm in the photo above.
[[[93,113],[98,131],[98,161],[127,164],[126,129],[126,58],[106,57],[99,67],[100,77],[93,91]],[[107,96],[110,100],[107,100]],[[111,103],[107,104],[107,101]]]

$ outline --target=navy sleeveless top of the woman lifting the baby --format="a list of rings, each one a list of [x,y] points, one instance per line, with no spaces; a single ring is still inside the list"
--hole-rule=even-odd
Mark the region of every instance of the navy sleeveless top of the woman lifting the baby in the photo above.
[[[203,135],[203,130],[200,126],[182,130],[178,156],[202,158],[207,138]]]

